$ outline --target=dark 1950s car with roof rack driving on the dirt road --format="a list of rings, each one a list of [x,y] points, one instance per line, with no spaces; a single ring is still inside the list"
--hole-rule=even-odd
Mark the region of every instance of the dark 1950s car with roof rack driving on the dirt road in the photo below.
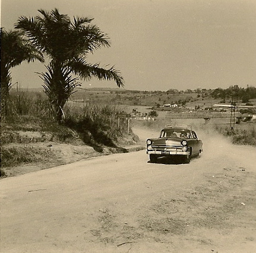
[[[198,139],[190,126],[165,126],[159,138],[147,139],[147,154],[150,162],[156,163],[157,158],[181,158],[189,164],[192,156],[199,156],[203,151],[203,142]]]

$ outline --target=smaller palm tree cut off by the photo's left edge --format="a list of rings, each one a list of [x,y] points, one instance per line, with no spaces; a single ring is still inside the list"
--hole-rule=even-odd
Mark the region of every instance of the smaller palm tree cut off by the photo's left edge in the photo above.
[[[5,104],[7,103],[11,88],[10,69],[20,65],[21,62],[33,62],[34,60],[44,62],[42,53],[38,52],[30,41],[24,39],[21,31],[6,31],[1,27],[1,105],[2,113],[5,114]]]

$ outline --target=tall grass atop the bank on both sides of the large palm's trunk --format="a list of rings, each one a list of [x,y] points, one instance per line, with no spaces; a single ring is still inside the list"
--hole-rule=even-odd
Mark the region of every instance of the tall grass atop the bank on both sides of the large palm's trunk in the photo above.
[[[51,132],[64,142],[71,137],[71,130],[78,133],[90,132],[95,142],[108,145],[110,139],[118,140],[122,137],[125,132],[123,130],[127,127],[122,120],[118,126],[119,113],[122,113],[121,107],[116,105],[67,103],[64,107],[64,122],[57,124],[53,120],[51,107],[46,98],[26,91],[12,92],[7,103],[7,113],[2,117],[1,127],[2,133]],[[86,142],[87,139],[83,140]]]

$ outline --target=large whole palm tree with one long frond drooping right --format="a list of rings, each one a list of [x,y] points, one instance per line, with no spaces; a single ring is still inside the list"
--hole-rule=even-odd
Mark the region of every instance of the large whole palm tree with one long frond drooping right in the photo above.
[[[114,80],[118,87],[124,85],[124,79],[115,68],[104,69],[97,63],[87,62],[88,53],[110,46],[108,36],[90,24],[93,18],[74,17],[71,21],[68,15],[59,14],[56,8],[50,12],[38,11],[42,16],[20,17],[15,28],[23,30],[33,46],[49,57],[47,72],[41,73],[40,77],[58,122],[61,122],[62,108],[69,96],[75,87],[81,85],[79,78],[72,75],[86,80],[93,77]]]

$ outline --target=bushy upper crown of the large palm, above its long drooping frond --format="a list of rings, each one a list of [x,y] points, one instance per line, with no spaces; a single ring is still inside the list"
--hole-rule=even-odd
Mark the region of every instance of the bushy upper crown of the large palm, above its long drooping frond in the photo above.
[[[97,25],[88,24],[93,18],[74,17],[71,22],[58,9],[51,12],[39,9],[39,12],[43,17],[20,17],[15,28],[23,30],[33,46],[52,59],[65,61],[110,46],[108,34],[102,33]]]

